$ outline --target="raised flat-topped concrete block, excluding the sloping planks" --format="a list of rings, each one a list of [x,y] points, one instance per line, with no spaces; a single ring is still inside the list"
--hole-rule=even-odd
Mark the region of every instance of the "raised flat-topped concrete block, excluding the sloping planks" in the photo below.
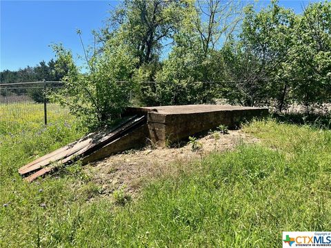
[[[230,105],[130,107],[128,114],[147,115],[150,140],[164,147],[168,142],[176,142],[219,125],[234,129],[243,121],[268,116],[268,108]]]

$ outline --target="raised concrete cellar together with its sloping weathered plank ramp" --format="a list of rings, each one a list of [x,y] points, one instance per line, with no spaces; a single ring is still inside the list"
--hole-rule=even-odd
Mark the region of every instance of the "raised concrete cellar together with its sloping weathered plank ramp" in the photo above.
[[[126,149],[142,146],[149,139],[164,147],[172,143],[213,129],[221,124],[237,127],[242,121],[268,115],[267,108],[225,105],[180,105],[161,107],[130,107],[129,118],[112,130],[100,130],[84,136],[74,143],[24,165],[19,174],[32,182],[39,176],[57,169],[57,163],[69,164],[81,158],[91,163]],[[147,116],[147,118],[146,118]]]

